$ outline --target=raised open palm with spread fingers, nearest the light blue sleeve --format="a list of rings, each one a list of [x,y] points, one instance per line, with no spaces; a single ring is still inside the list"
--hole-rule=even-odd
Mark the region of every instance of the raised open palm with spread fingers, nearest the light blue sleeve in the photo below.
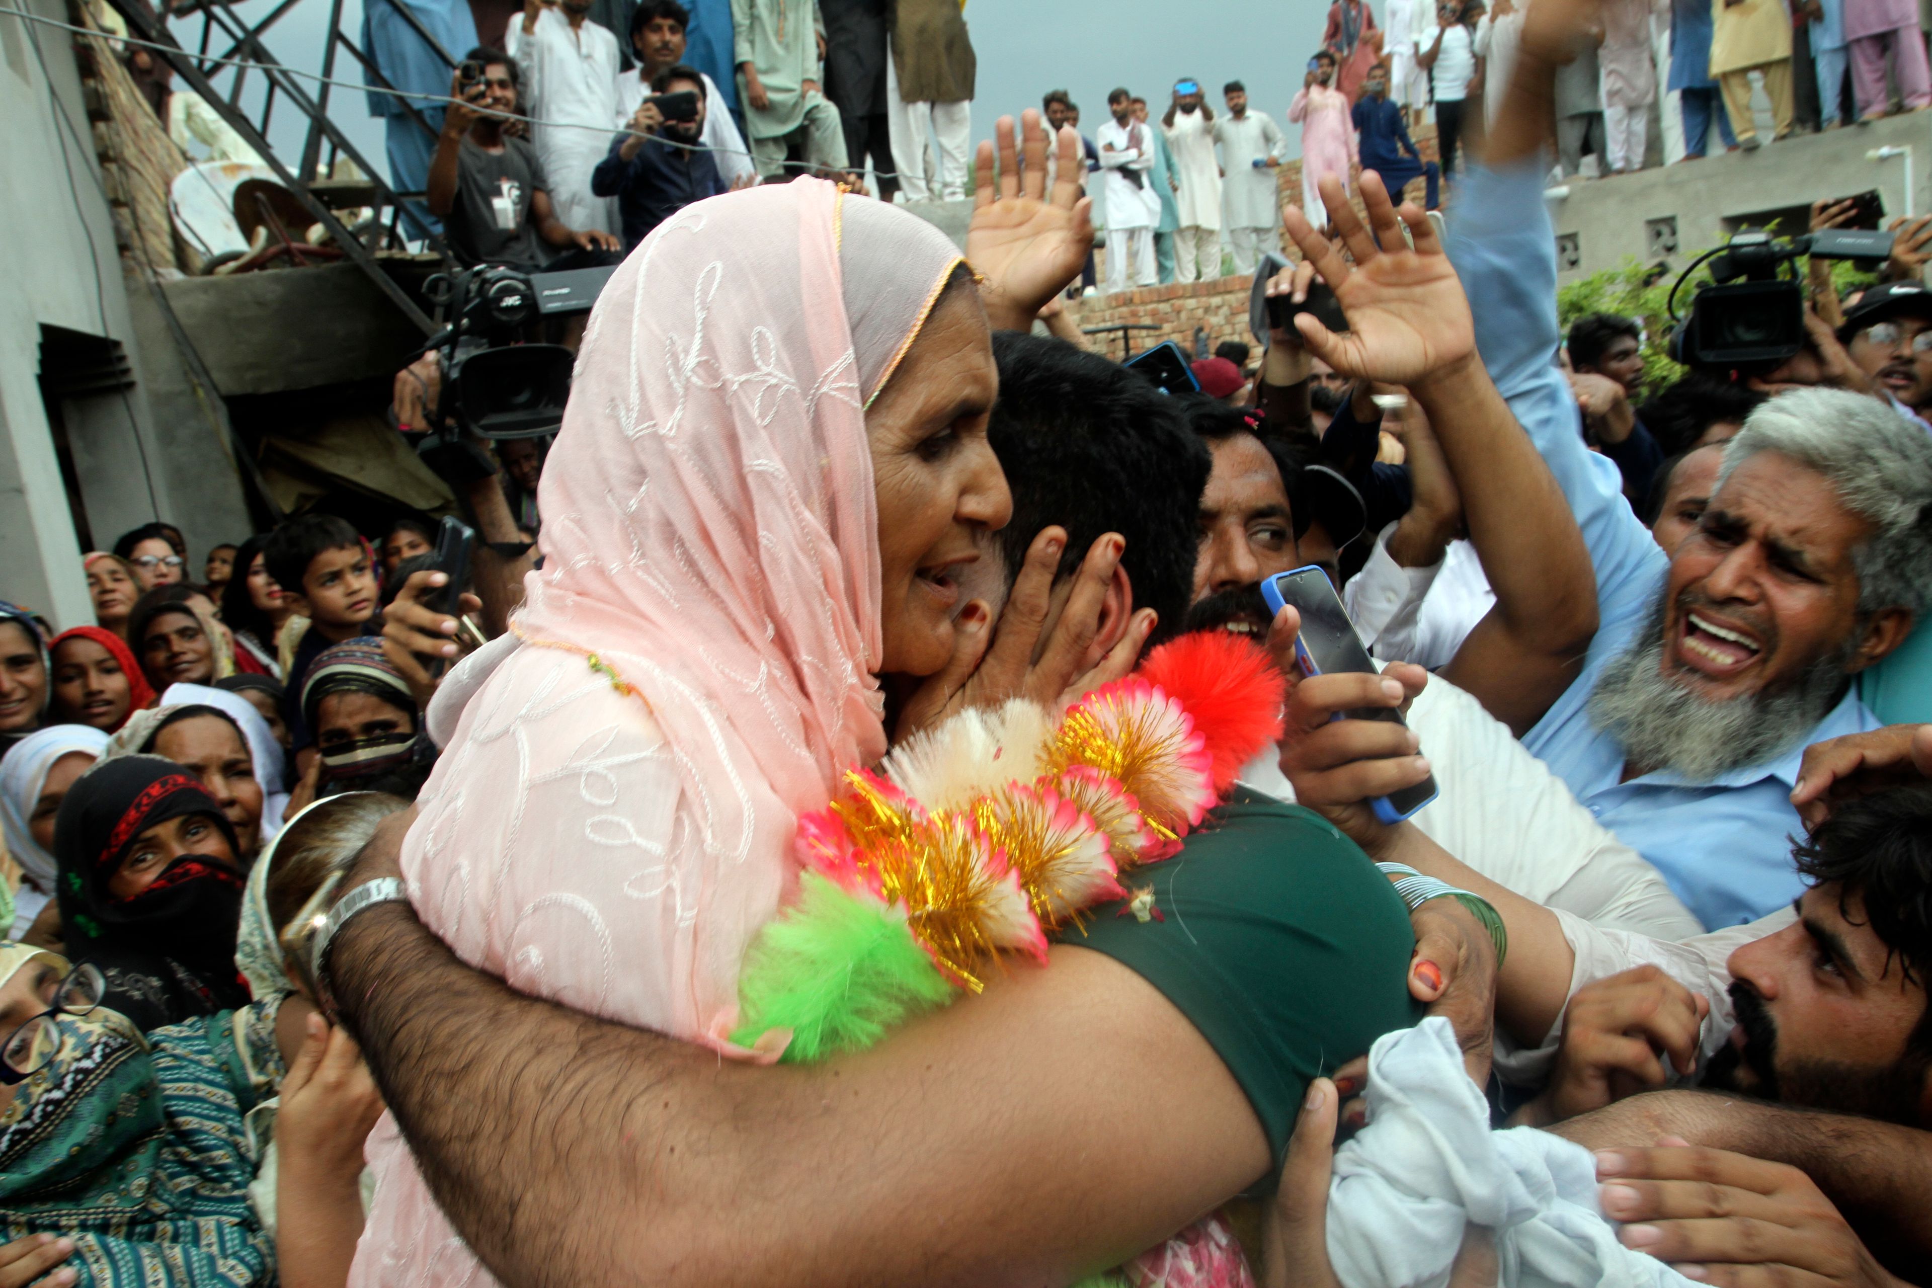
[[[1370,236],[1339,180],[1325,176],[1320,187],[1329,222],[1354,257],[1354,266],[1298,209],[1289,207],[1283,216],[1289,236],[1333,288],[1349,317],[1349,330],[1339,334],[1306,313],[1296,317],[1308,351],[1343,375],[1391,384],[1416,384],[1474,353],[1468,297],[1428,216],[1412,205],[1397,210],[1381,178],[1366,170],[1362,205],[1374,228]],[[1414,247],[1403,239],[1403,224]]]

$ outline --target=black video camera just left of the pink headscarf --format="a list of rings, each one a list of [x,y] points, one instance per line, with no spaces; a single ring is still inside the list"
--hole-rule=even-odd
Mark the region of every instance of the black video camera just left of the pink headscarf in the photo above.
[[[429,433],[415,444],[423,462],[450,483],[497,473],[479,438],[535,438],[556,433],[570,400],[576,355],[560,344],[524,344],[539,317],[582,313],[614,268],[522,272],[479,265],[437,274],[423,294],[442,309],[446,326],[429,338],[442,363],[442,394]]]

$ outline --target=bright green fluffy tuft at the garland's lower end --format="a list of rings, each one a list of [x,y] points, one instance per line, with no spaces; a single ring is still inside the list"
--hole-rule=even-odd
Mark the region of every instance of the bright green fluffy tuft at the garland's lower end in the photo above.
[[[790,1029],[784,1060],[808,1064],[866,1050],[952,993],[900,911],[806,873],[798,902],[752,942],[732,1041],[750,1047],[767,1029]]]

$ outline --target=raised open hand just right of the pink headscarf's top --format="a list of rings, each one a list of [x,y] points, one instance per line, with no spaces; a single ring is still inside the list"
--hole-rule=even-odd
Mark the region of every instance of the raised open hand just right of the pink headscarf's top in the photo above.
[[[1047,129],[1039,112],[993,127],[999,149],[999,187],[993,143],[980,143],[974,212],[966,228],[966,261],[980,274],[980,299],[995,330],[1028,330],[1034,315],[1080,276],[1094,249],[1094,203],[1082,195],[1086,160],[1080,135],[1061,129],[1055,147],[1053,191],[1047,193]]]

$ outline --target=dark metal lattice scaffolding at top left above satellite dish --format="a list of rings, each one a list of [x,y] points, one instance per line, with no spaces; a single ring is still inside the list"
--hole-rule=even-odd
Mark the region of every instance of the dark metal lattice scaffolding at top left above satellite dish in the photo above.
[[[269,52],[269,46],[261,39],[265,31],[274,27],[301,0],[282,0],[253,27],[234,12],[234,6],[228,4],[228,0],[189,0],[189,4],[170,8],[166,17],[203,17],[201,42],[197,50],[187,50],[174,39],[164,15],[156,12],[149,0],[108,2],[124,19],[128,19],[129,35],[156,44],[158,48],[153,52],[166,58],[174,68],[174,73],[180,75],[195,93],[207,98],[209,106],[261,154],[280,183],[288,187],[288,191],[301,201],[307,212],[315,216],[315,222],[323,226],[330,243],[340,247],[342,257],[367,272],[375,286],[398,309],[402,309],[402,313],[415,322],[423,334],[433,334],[437,330],[437,322],[423,313],[421,305],[417,305],[410,292],[384,272],[383,265],[377,261],[379,249],[398,245],[404,238],[423,239],[435,253],[442,255],[444,261],[450,259],[448,247],[444,247],[442,239],[435,234],[427,234],[421,228],[412,228],[408,234],[404,232],[402,220],[406,218],[406,212],[402,203],[410,199],[421,201],[423,193],[394,191],[379,178],[379,170],[369,164],[369,158],[328,118],[328,98],[334,89],[328,81],[336,77],[338,52],[350,54],[359,70],[359,75],[365,79],[363,83],[377,89],[394,89],[394,85],[377,68],[369,50],[361,48],[348,33],[342,31],[342,0],[328,0],[328,37],[323,46],[323,81],[315,87],[313,95],[303,87],[303,77],[292,75],[290,70]],[[392,4],[404,21],[408,21],[410,27],[429,44],[429,48],[448,62],[452,71],[456,70],[456,60],[423,27],[421,19],[410,12],[408,4],[400,4],[398,0],[367,2]],[[226,46],[220,48],[220,52],[213,52],[222,41],[226,41]],[[230,66],[228,60],[243,60],[253,66]],[[243,89],[247,89],[251,70],[267,81],[261,108],[253,118],[242,106],[242,95]],[[228,77],[226,93],[214,85],[214,79],[224,75]],[[278,100],[299,112],[307,122],[301,160],[294,170],[286,166],[269,145],[269,122]],[[398,95],[396,100],[402,104],[408,120],[415,122],[415,126],[431,137],[437,135],[437,129],[429,126],[410,98]],[[365,178],[317,178],[319,174],[332,170],[336,158],[354,162]],[[359,209],[373,209],[375,216],[359,224],[361,234],[357,236],[357,232],[350,230],[342,222],[338,212]]]

